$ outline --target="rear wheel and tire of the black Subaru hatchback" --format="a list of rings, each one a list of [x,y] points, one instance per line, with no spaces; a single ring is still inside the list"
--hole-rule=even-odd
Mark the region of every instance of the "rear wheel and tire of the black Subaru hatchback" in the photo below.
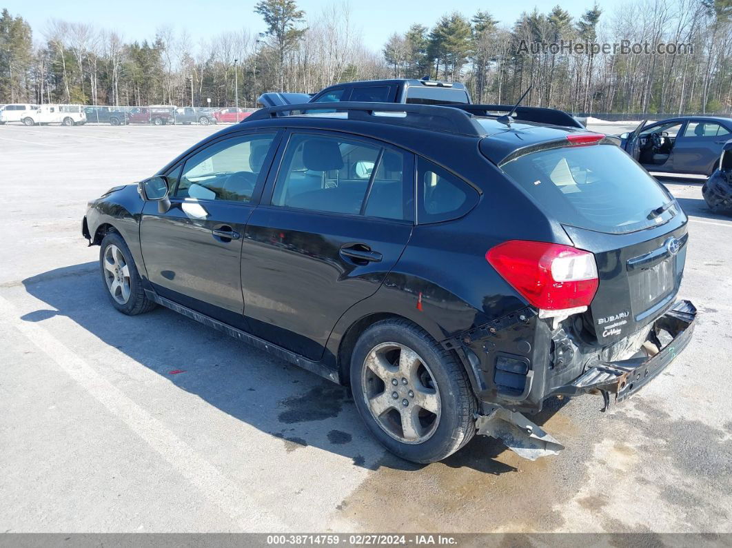
[[[359,337],[350,380],[361,418],[398,457],[436,462],[475,435],[477,401],[465,369],[408,320],[382,320]]]

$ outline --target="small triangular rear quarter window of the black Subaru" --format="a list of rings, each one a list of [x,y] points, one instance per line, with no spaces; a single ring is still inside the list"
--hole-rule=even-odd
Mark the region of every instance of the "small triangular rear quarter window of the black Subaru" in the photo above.
[[[457,219],[478,201],[477,192],[468,184],[424,158],[417,160],[417,185],[417,221],[421,223]]]

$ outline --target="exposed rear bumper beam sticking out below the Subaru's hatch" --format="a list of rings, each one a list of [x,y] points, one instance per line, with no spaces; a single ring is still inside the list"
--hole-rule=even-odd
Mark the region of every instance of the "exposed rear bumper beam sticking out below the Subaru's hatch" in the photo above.
[[[597,364],[571,383],[553,391],[551,395],[571,397],[593,391],[607,391],[616,395],[616,401],[623,401],[657,377],[686,348],[694,331],[695,320],[696,307],[690,301],[677,301],[654,322],[649,333],[647,342],[655,346],[658,346],[659,331],[666,331],[673,337],[662,348],[658,348],[658,353],[654,356]]]

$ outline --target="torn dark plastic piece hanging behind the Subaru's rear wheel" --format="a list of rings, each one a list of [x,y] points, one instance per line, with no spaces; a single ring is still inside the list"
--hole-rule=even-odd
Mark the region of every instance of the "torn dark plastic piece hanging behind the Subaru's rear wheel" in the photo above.
[[[498,408],[475,421],[478,434],[501,440],[511,451],[524,459],[556,455],[564,449],[557,440],[521,413]]]

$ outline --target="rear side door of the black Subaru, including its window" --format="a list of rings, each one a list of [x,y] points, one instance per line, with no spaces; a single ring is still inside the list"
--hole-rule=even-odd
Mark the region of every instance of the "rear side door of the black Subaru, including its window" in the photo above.
[[[245,315],[260,337],[320,359],[343,312],[372,295],[414,219],[411,154],[336,132],[291,132],[242,247]]]

